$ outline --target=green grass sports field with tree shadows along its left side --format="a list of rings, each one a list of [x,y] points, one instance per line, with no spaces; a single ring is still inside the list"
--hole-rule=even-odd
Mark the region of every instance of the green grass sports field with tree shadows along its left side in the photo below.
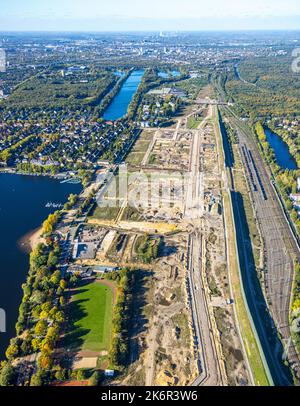
[[[111,340],[113,292],[92,282],[80,286],[70,303],[70,332],[66,346],[82,351],[108,350]]]

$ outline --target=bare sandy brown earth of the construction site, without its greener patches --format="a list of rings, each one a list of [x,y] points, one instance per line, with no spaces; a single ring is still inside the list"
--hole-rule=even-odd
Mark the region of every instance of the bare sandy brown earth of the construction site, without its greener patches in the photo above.
[[[195,111],[202,108],[195,108]],[[188,111],[191,114],[191,110]],[[192,114],[193,110],[192,110]],[[125,238],[125,246],[119,247],[116,253],[118,264],[126,258],[127,265],[134,263],[134,233],[155,233],[163,237],[159,259],[148,269],[144,286],[144,305],[140,319],[145,323],[131,331],[131,365],[126,377],[117,380],[116,384],[124,385],[158,385],[175,386],[189,385],[194,382],[201,371],[198,369],[200,348],[213,346],[217,357],[207,358],[208,369],[217,362],[220,378],[230,385],[247,385],[249,377],[244,360],[240,337],[235,326],[233,307],[228,305],[230,299],[228,269],[226,258],[225,231],[221,198],[221,169],[218,164],[218,149],[212,121],[212,109],[206,109],[207,117],[199,125],[199,129],[188,130],[187,120],[180,117],[174,128],[152,131],[153,142],[150,142],[140,170],[149,171],[150,167],[159,166],[161,172],[170,173],[170,169],[180,171],[191,170],[197,177],[202,174],[204,196],[201,200],[202,214],[198,215],[199,202],[195,207],[186,207],[186,200],[178,198],[170,205],[164,204],[153,210],[150,205],[140,209],[143,221],[122,222],[120,216],[116,221],[93,220],[94,225],[109,228],[129,235]],[[147,132],[149,135],[150,132]],[[182,151],[186,151],[182,153]],[[180,152],[181,151],[181,152]],[[128,157],[130,160],[130,155]],[[171,172],[172,173],[172,172]],[[188,193],[199,192],[195,179]],[[140,187],[140,186],[139,186]],[[145,188],[148,187],[145,184]],[[136,184],[130,185],[135,191]],[[196,189],[195,189],[196,188]],[[175,187],[176,190],[176,187]],[[129,193],[130,193],[129,191]],[[151,189],[152,201],[161,201],[162,189],[155,192]],[[157,193],[157,194],[155,194]],[[165,196],[165,195],[164,195]],[[173,199],[174,200],[174,199]],[[134,227],[133,227],[134,226]],[[176,233],[168,234],[174,227]],[[197,289],[203,289],[207,301],[207,309],[199,308],[201,317],[208,317],[211,325],[209,343],[195,344],[192,313],[186,288],[188,233],[199,230],[202,235],[203,248]],[[108,252],[109,249],[106,251]],[[126,253],[126,255],[125,255]],[[104,254],[104,255],[103,255]],[[105,253],[101,254],[103,261]],[[124,258],[125,257],[125,258]],[[98,260],[100,256],[98,257]],[[205,338],[204,338],[205,340]],[[200,354],[208,357],[206,350]],[[217,379],[217,378],[216,378]],[[213,384],[209,378],[206,384]]]

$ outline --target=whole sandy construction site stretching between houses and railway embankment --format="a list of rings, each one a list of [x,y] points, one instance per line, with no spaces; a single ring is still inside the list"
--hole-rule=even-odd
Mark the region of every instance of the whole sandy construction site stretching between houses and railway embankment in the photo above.
[[[143,274],[130,366],[115,383],[251,383],[228,280],[215,106],[199,108],[195,129],[191,114],[142,132],[80,231],[95,246],[78,265]]]

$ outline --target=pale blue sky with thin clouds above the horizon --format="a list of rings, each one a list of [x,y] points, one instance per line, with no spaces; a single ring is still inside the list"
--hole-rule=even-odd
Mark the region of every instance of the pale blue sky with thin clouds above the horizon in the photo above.
[[[300,29],[299,0],[0,0],[0,31]]]

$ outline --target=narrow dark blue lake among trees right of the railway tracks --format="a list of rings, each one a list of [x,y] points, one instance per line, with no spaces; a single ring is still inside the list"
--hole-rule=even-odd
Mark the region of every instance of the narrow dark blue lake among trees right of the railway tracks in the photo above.
[[[288,145],[273,133],[269,128],[265,128],[267,141],[275,153],[275,158],[278,165],[282,169],[298,169],[295,159],[292,157]]]

